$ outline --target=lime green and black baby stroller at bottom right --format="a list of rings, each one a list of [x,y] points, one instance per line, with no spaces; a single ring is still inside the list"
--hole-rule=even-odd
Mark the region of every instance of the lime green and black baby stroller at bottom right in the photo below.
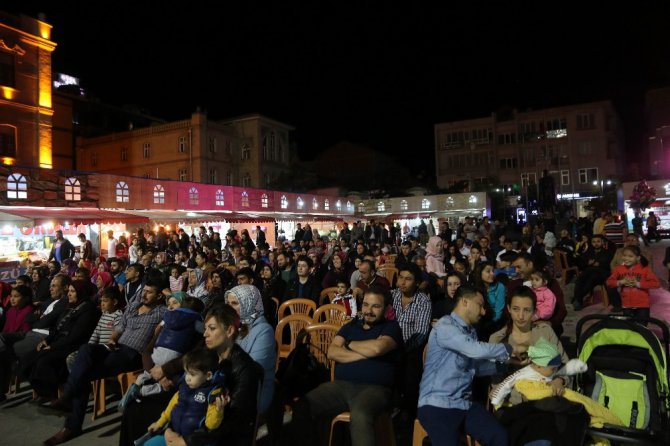
[[[597,320],[583,333],[584,324]],[[647,328],[658,328],[661,338]],[[668,433],[668,326],[659,319],[593,314],[577,323],[577,352],[589,366],[579,391],[614,412],[624,426],[590,428],[612,444],[670,444]]]

